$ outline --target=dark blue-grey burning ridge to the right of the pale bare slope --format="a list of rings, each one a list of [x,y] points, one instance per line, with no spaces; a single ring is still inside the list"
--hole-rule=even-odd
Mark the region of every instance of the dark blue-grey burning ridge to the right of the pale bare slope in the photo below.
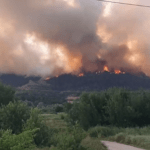
[[[150,78],[146,76],[136,76],[129,73],[114,74],[104,72],[101,74],[86,74],[83,77],[73,75],[61,75],[48,81],[52,85],[52,90],[105,90],[110,87],[125,87],[132,90],[139,88],[150,89]]]

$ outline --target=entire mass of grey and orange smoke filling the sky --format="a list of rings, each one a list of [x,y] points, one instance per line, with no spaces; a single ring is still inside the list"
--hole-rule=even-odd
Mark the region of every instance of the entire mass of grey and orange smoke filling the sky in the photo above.
[[[96,0],[0,0],[0,73],[46,77],[107,65],[150,75],[149,12]]]

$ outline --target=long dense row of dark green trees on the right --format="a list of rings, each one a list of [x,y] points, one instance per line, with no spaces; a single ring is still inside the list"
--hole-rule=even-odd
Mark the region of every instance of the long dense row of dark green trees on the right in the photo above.
[[[111,88],[102,92],[83,93],[79,101],[66,104],[65,107],[68,122],[78,122],[85,130],[96,125],[150,125],[149,91]]]

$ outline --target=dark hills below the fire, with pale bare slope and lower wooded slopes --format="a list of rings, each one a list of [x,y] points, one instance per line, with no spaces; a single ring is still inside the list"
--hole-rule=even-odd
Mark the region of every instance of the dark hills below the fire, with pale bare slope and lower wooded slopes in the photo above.
[[[2,83],[16,88],[16,96],[38,105],[63,103],[68,96],[79,96],[83,91],[101,91],[111,87],[125,87],[131,90],[150,90],[150,78],[145,75],[86,73],[82,77],[64,74],[44,81],[39,77],[17,75],[0,76]]]

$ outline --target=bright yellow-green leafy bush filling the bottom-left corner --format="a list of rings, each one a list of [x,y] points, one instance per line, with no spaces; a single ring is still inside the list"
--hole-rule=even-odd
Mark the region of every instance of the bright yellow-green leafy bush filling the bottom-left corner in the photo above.
[[[1,130],[0,150],[31,150],[35,148],[33,136],[37,129],[24,131],[18,135],[11,130]]]

